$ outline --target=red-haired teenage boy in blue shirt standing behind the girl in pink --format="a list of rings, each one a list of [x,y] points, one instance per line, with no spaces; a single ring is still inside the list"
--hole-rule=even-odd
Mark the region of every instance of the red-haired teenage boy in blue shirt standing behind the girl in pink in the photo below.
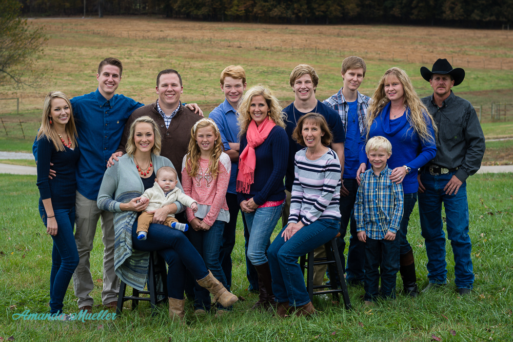
[[[231,286],[231,251],[235,246],[235,228],[237,226],[237,217],[241,207],[237,200],[237,192],[235,190],[237,178],[237,166],[239,163],[239,126],[237,107],[241,102],[244,90],[246,90],[246,72],[240,65],[230,65],[221,72],[220,78],[221,90],[225,95],[225,100],[218,107],[215,107],[208,115],[209,118],[214,120],[215,124],[219,127],[219,133],[223,141],[226,154],[231,159],[231,175],[228,191],[226,192],[226,203],[230,211],[230,222],[225,225],[223,233],[223,243],[221,245],[220,260],[221,267],[225,273],[226,280],[228,281],[227,290]],[[244,215],[242,215],[244,221]],[[246,275],[249,281],[248,290],[258,291],[258,274],[254,266],[249,261],[248,253],[248,239],[249,232],[244,222],[244,238],[246,240]]]

